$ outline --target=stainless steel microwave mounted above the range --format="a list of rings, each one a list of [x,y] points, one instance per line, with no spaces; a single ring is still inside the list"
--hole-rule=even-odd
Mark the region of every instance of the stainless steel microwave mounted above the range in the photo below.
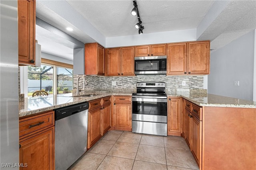
[[[135,74],[166,74],[166,56],[135,57]]]

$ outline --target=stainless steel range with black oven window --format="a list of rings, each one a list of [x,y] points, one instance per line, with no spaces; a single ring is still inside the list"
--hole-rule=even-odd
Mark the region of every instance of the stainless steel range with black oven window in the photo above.
[[[164,82],[137,83],[137,92],[132,94],[132,132],[167,136]]]

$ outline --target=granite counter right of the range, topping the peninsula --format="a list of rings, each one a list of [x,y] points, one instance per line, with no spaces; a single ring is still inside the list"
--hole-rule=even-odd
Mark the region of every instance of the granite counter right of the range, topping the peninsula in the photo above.
[[[167,93],[168,97],[182,97],[198,106],[256,108],[256,102],[207,93]]]

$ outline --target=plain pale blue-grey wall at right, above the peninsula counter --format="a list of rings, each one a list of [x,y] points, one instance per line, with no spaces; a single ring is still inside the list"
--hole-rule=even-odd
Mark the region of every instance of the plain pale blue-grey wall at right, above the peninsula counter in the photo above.
[[[254,31],[213,51],[208,93],[253,100]],[[234,81],[239,80],[239,86]]]

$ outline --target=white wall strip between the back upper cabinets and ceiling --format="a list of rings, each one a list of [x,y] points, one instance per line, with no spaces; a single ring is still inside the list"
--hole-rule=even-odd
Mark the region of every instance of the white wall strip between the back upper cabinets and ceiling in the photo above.
[[[120,37],[106,37],[106,48],[160,43],[196,41],[196,28],[158,33],[143,33]]]

